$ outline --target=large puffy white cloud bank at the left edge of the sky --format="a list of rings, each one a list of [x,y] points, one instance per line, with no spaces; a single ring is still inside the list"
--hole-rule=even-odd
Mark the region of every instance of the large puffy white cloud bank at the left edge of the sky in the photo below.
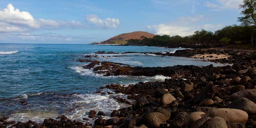
[[[39,18],[34,19],[29,12],[15,9],[12,4],[8,4],[3,10],[0,10],[1,28],[6,28],[5,31],[24,31],[25,29],[61,29],[61,28],[87,28],[88,26],[75,20],[60,21],[60,20],[45,20]],[[0,30],[0,32],[4,30]]]

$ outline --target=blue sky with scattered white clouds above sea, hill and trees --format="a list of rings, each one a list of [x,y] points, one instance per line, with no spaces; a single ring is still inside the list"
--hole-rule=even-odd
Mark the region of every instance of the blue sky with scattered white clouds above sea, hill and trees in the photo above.
[[[243,0],[1,0],[0,43],[89,44],[147,31],[192,35],[240,24]]]

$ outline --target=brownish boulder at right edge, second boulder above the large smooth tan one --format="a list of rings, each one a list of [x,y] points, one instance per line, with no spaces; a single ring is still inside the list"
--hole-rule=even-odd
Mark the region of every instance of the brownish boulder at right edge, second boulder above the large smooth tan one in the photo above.
[[[256,103],[256,89],[246,89],[243,91],[233,93],[232,95],[230,95],[230,100],[234,101],[240,97],[247,98],[252,102]]]

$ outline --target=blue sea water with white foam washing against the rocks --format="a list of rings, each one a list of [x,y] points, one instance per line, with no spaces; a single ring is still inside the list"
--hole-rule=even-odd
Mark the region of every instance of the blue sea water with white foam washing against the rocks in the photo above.
[[[108,76],[94,74],[83,69],[88,63],[76,62],[84,55],[97,51],[106,52],[174,52],[146,46],[112,46],[91,44],[0,44],[0,116],[9,120],[42,121],[67,115],[71,119],[87,117],[89,110],[101,110],[107,114],[125,107],[110,97],[124,94],[94,94],[106,84],[130,84],[140,81],[163,81],[165,76]],[[100,61],[112,61],[131,66],[157,67],[174,65],[222,66],[193,58],[161,57],[145,54],[104,54]],[[111,56],[111,57],[106,57]],[[118,57],[114,57],[118,56]],[[103,90],[111,92],[111,90]],[[64,95],[64,94],[67,94]],[[22,104],[26,100],[28,104]]]

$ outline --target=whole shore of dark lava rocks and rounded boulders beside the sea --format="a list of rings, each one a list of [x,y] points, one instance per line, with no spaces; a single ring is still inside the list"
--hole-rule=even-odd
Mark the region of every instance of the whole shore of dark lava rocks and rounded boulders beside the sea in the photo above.
[[[129,52],[130,53],[130,52]],[[137,52],[136,52],[137,53]],[[128,94],[129,102],[116,98],[118,102],[131,107],[114,110],[110,119],[106,114],[89,112],[89,117],[97,118],[94,125],[69,120],[65,116],[45,119],[39,124],[6,121],[1,118],[0,127],[99,127],[99,128],[254,128],[256,127],[256,52],[221,49],[186,49],[175,53],[139,52],[161,56],[192,57],[196,54],[228,54],[228,59],[212,59],[220,63],[233,63],[232,66],[206,67],[131,67],[122,63],[100,62],[93,59],[79,59],[91,62],[83,68],[95,73],[132,76],[171,76],[164,82],[140,82],[138,84],[109,84],[95,93],[108,88],[116,93]],[[97,54],[117,54],[97,52]],[[125,53],[122,53],[125,54]],[[93,58],[97,56],[86,56]],[[101,65],[100,65],[101,64]],[[100,65],[95,67],[96,65]],[[97,116],[96,116],[97,115]],[[87,120],[84,118],[84,120]]]

